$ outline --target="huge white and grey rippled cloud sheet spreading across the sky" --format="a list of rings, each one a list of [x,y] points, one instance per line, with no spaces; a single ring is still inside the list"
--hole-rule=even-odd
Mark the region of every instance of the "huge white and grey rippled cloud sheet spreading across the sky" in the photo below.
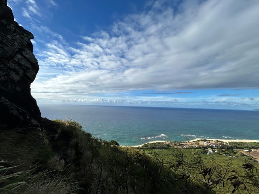
[[[32,92],[171,94],[166,91],[259,87],[259,1],[181,2],[177,10],[156,1],[147,8],[73,46],[38,28],[53,37],[36,53],[39,75],[46,69],[57,73],[36,78]]]

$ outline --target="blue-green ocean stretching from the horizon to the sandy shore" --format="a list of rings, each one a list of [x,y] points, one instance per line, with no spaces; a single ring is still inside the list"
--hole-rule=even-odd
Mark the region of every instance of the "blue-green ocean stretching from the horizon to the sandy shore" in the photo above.
[[[42,117],[73,119],[93,136],[135,146],[195,138],[259,140],[259,111],[39,105]]]

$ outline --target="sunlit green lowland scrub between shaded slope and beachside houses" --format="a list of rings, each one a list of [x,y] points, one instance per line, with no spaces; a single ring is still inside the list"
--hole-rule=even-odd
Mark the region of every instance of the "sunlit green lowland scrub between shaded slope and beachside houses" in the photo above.
[[[227,194],[233,191],[233,183],[240,181],[234,193],[259,193],[259,164],[247,159],[248,156],[241,152],[234,154],[230,150],[217,149],[218,152],[212,154],[207,154],[205,149],[147,149],[145,152],[163,159],[165,166],[176,173],[177,179],[184,179],[193,187],[205,184],[210,191]],[[244,170],[244,163],[251,164],[253,168]],[[204,176],[209,169],[210,175],[205,173]]]

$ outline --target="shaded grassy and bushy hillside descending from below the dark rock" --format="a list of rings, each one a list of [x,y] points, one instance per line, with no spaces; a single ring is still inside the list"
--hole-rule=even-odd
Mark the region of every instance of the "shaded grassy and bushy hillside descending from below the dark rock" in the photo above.
[[[57,137],[49,135],[48,129],[43,136],[36,129],[1,132],[0,193],[172,193],[183,189],[172,181],[162,160],[144,151],[94,138],[71,120],[55,120],[54,125]]]

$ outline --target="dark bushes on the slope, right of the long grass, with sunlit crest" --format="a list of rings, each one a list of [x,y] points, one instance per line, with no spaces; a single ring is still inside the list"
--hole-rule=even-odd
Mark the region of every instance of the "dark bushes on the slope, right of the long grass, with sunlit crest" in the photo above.
[[[66,170],[77,174],[80,187],[87,193],[177,191],[163,160],[135,148],[121,147],[114,140],[94,138],[72,121],[55,123],[59,131],[55,152],[63,152]]]

